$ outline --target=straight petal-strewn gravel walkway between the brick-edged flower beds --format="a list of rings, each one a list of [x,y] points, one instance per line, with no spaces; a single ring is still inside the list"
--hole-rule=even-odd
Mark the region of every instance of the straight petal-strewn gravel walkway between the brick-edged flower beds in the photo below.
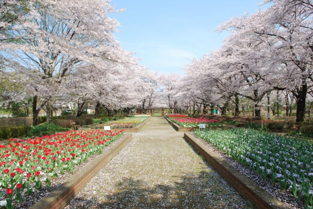
[[[152,118],[66,208],[250,208],[164,118]]]

